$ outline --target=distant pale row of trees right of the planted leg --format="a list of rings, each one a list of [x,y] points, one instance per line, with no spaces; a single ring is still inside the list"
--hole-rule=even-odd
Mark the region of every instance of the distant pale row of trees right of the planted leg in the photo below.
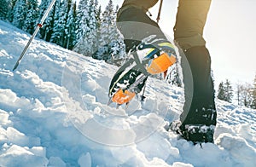
[[[237,101],[238,105],[256,109],[256,75],[253,83],[236,83],[235,91],[228,79],[218,85],[218,99],[232,102]],[[236,98],[234,98],[236,95]]]

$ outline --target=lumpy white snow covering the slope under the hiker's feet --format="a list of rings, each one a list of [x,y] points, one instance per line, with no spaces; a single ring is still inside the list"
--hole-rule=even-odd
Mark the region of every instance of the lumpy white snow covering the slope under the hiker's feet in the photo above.
[[[166,124],[183,89],[149,78],[143,103],[108,107],[117,67],[35,39],[0,21],[0,166],[255,166],[256,111],[216,101],[215,144],[193,145]]]

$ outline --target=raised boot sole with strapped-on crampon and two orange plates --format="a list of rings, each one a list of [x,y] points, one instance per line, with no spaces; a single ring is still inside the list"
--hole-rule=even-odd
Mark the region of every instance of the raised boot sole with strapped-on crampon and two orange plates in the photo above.
[[[166,42],[158,43],[156,47],[152,43],[138,45],[131,52],[133,58],[127,60],[114,74],[108,92],[108,105],[114,102],[117,107],[125,104],[127,108],[130,101],[142,91],[149,76],[166,72],[169,66],[175,64],[175,53],[166,52],[170,48],[173,49],[172,43]],[[137,50],[142,49],[148,49],[148,54],[140,60]]]

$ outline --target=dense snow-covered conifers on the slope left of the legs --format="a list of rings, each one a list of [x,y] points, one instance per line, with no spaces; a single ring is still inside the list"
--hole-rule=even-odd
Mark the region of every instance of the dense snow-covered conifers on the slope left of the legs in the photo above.
[[[52,0],[0,0],[0,19],[32,34]],[[38,37],[63,48],[111,61],[125,56],[125,44],[109,0],[104,11],[97,0],[56,0]]]

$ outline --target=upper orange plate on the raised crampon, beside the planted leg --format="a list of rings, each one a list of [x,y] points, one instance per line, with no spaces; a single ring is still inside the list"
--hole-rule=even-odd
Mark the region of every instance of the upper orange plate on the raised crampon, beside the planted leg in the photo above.
[[[175,56],[169,56],[166,53],[154,58],[147,67],[147,71],[151,74],[158,74],[160,72],[166,72],[169,66],[172,66],[176,62]]]

